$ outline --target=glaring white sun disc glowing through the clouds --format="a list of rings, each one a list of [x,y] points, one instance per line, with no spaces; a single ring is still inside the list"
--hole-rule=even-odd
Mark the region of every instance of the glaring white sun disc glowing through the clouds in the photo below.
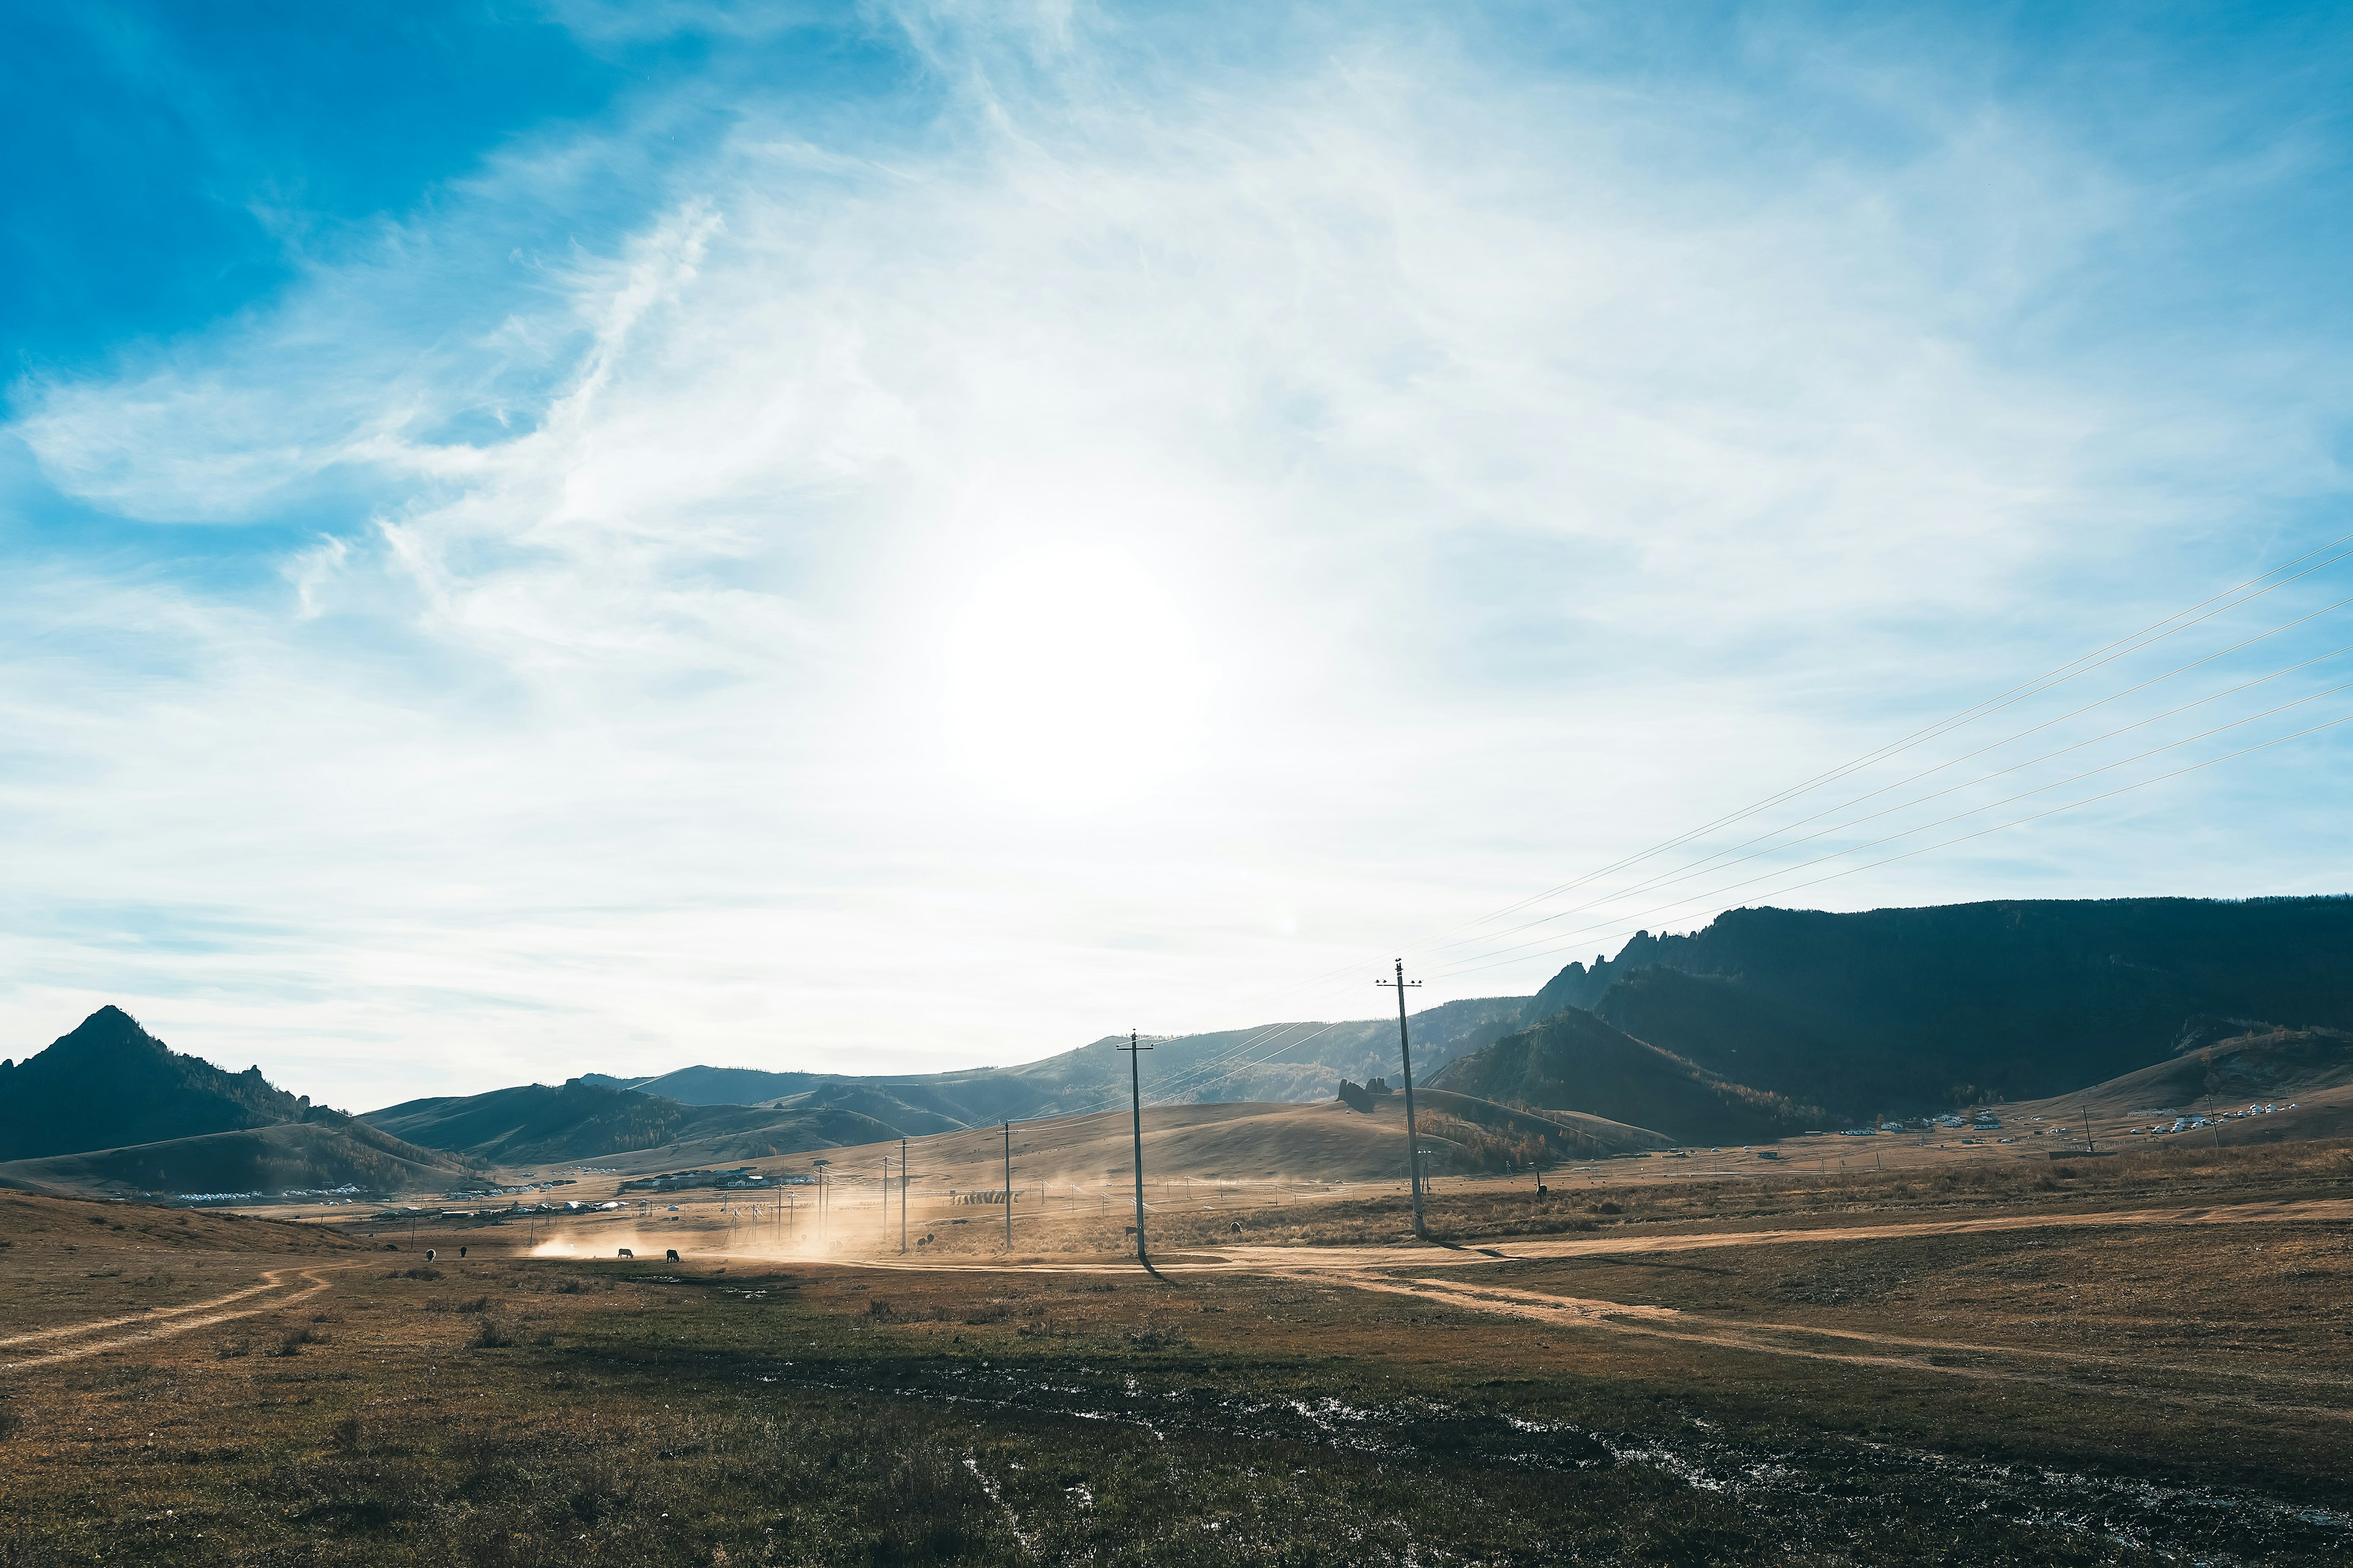
[[[1000,797],[1125,799],[1195,752],[1200,651],[1169,592],[1118,555],[991,571],[951,618],[946,658],[953,755]]]

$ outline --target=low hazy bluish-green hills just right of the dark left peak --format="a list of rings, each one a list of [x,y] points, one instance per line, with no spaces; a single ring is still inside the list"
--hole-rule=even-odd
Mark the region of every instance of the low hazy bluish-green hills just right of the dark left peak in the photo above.
[[[367,1124],[428,1150],[492,1164],[553,1164],[661,1150],[666,1159],[765,1159],[840,1143],[896,1138],[899,1128],[847,1110],[680,1105],[640,1088],[572,1079],[480,1095],[407,1100]]]

